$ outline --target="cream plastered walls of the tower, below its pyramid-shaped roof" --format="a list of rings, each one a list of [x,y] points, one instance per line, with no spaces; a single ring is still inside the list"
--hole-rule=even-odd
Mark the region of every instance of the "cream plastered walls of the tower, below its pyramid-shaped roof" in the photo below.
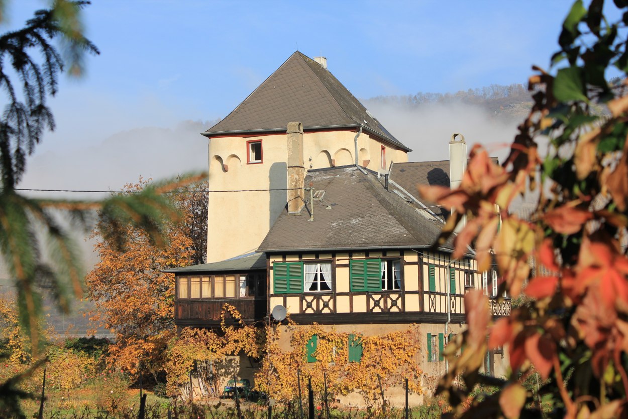
[[[355,162],[355,131],[317,131],[303,135],[305,169]],[[261,141],[263,162],[247,164],[247,141]],[[236,257],[259,247],[283,210],[288,187],[288,138],[285,133],[252,137],[217,137],[209,142],[209,190],[257,192],[210,193],[207,223],[207,262]],[[361,133],[357,140],[359,164],[387,172],[392,162],[407,162],[403,150],[384,145]],[[381,147],[386,147],[386,169],[381,169]],[[368,161],[367,161],[368,160]]]

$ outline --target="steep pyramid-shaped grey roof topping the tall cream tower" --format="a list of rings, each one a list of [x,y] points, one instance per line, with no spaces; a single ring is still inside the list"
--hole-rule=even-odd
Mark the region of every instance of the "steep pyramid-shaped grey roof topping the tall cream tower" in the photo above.
[[[372,117],[332,73],[298,51],[203,135],[286,131],[293,121],[303,123],[304,130],[362,126],[363,131],[384,142],[411,151]]]

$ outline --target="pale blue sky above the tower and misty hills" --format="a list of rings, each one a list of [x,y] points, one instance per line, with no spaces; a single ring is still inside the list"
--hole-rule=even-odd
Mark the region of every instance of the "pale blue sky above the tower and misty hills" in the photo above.
[[[9,2],[5,29],[47,3]],[[57,131],[45,136],[22,186],[115,188],[122,177],[203,169],[207,140],[181,121],[223,118],[297,48],[325,55],[328,69],[358,98],[524,83],[532,64],[547,67],[570,5],[94,0],[85,25],[101,54],[87,60],[82,79],[63,77],[51,101]],[[142,131],[150,127],[171,139],[151,145],[154,132]],[[107,169],[124,144],[130,160]],[[80,160],[89,155],[87,170]]]

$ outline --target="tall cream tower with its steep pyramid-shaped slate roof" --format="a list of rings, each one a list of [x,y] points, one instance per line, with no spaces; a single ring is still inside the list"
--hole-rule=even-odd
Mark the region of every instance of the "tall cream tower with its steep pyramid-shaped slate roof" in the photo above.
[[[303,124],[305,169],[359,164],[387,172],[410,151],[327,70],[327,59],[293,53],[209,139],[207,262],[254,252],[287,201],[289,122]],[[225,220],[238,220],[237,228]],[[230,240],[224,240],[229,237]]]

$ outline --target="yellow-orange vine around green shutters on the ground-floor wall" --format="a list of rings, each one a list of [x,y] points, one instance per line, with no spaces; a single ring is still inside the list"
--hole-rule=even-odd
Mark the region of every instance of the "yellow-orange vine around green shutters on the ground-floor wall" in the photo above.
[[[276,330],[290,333],[288,347],[284,337]],[[386,333],[385,335],[360,336],[362,342],[360,362],[349,362],[349,335],[335,328],[321,325],[267,327],[263,367],[255,377],[259,391],[278,400],[289,401],[297,394],[296,371],[300,371],[301,385],[311,378],[313,387],[322,390],[323,374],[327,376],[330,398],[335,394],[357,392],[367,403],[381,398],[379,379],[384,389],[409,379],[409,388],[421,393],[422,371],[418,368],[421,335],[418,327]],[[317,335],[317,362],[306,362],[305,345],[312,335]]]

